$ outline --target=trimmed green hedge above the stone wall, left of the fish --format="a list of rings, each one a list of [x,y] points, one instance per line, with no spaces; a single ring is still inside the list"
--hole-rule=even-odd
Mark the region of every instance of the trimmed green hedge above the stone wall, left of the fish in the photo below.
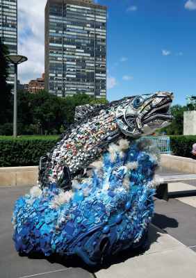
[[[0,167],[38,165],[59,136],[0,136]]]

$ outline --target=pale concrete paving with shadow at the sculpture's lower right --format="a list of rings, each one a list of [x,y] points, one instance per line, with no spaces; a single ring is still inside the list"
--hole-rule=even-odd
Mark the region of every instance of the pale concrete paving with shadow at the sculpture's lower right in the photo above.
[[[196,253],[178,240],[149,226],[149,249],[125,250],[95,272],[97,278],[195,278]]]

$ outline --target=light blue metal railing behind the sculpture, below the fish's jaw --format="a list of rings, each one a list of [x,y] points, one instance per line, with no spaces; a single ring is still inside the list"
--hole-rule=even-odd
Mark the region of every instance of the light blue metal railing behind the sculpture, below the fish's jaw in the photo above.
[[[138,140],[140,141],[144,138],[151,138],[153,140],[153,145],[149,149],[158,148],[162,154],[170,154],[170,137],[142,137]]]

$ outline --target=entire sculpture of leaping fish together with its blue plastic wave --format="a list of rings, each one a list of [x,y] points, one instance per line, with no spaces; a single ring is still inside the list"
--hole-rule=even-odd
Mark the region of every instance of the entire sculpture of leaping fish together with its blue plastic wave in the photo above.
[[[154,172],[161,165],[158,149],[136,139],[170,124],[172,98],[172,92],[158,92],[76,108],[74,124],[40,158],[38,186],[16,200],[17,252],[78,255],[96,265],[129,247],[145,247],[163,179]],[[93,179],[71,181],[99,157]]]

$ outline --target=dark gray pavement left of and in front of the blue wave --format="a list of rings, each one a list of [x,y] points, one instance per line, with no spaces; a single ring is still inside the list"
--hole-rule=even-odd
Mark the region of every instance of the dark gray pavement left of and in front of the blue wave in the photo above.
[[[0,187],[0,277],[82,277],[92,278],[85,270],[83,261],[63,261],[56,256],[46,257],[41,253],[21,254],[15,250],[13,224],[11,222],[15,199],[29,193],[31,186]],[[84,268],[83,268],[84,265]],[[66,274],[65,274],[66,272]]]

